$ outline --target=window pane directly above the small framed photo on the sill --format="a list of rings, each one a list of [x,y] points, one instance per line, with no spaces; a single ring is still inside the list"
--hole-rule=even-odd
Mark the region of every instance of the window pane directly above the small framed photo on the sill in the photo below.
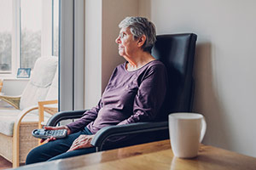
[[[33,68],[41,56],[42,1],[20,0],[20,67]]]

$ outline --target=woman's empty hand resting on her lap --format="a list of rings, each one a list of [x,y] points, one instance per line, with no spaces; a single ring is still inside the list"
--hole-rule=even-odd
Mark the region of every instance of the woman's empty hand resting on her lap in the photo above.
[[[79,136],[79,138],[77,138],[73,141],[73,144],[67,151],[93,147],[93,145],[90,144],[90,141],[93,139],[93,137],[94,137],[94,135],[81,134]]]

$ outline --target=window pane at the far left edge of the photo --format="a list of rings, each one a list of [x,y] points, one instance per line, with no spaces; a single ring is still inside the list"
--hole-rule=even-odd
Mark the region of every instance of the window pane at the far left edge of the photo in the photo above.
[[[0,72],[11,71],[12,60],[12,1],[0,1]]]

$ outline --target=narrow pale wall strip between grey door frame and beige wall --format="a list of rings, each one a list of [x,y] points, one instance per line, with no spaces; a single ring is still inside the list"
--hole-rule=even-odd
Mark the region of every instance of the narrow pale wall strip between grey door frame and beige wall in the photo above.
[[[102,96],[102,0],[85,0],[84,106],[90,109]]]

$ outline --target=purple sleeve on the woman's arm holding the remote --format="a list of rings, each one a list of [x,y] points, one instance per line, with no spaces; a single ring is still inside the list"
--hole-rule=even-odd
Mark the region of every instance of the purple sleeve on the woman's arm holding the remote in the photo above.
[[[72,133],[77,133],[87,126],[90,122],[93,122],[98,112],[102,108],[102,99],[100,99],[96,107],[91,108],[89,111],[85,111],[84,115],[77,121],[67,124],[67,127],[71,130]]]

